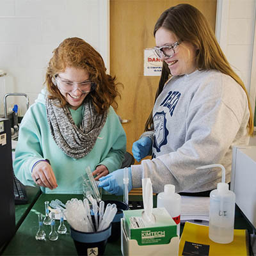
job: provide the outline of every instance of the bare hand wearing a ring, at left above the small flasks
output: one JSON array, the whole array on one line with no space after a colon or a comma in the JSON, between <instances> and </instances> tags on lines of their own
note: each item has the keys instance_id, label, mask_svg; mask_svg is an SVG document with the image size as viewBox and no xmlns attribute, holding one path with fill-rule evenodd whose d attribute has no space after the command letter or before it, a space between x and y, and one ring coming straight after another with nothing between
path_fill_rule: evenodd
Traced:
<instances>
[{"instance_id":1,"label":"bare hand wearing a ring, at left above the small flasks","mask_svg":"<svg viewBox=\"0 0 256 256\"><path fill-rule=\"evenodd\" d=\"M51 164L46 161L40 161L40 163L36 164L33 168L32 178L38 186L49 189L58 187Z\"/></svg>"}]
</instances>

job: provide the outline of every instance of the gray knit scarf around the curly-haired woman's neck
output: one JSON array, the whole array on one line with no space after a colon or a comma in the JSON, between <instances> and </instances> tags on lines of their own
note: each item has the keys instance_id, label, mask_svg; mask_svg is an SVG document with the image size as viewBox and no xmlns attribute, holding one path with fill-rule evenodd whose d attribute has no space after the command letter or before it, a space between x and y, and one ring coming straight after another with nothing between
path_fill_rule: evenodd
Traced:
<instances>
[{"instance_id":1,"label":"gray knit scarf around the curly-haired woman's neck","mask_svg":"<svg viewBox=\"0 0 256 256\"><path fill-rule=\"evenodd\" d=\"M98 114L92 100L86 97L83 103L83 121L77 127L68 107L59 108L57 107L59 105L60 100L47 97L47 121L52 138L67 156L80 159L86 156L95 145L106 122L108 111Z\"/></svg>"}]
</instances>

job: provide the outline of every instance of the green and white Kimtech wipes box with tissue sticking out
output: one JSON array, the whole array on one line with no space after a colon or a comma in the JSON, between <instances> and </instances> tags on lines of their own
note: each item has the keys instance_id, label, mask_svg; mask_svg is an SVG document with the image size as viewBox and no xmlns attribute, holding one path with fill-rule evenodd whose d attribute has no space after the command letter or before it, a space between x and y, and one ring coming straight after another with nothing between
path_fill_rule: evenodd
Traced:
<instances>
[{"instance_id":1,"label":"green and white Kimtech wipes box with tissue sticking out","mask_svg":"<svg viewBox=\"0 0 256 256\"><path fill-rule=\"evenodd\" d=\"M143 220L143 209L124 211L124 228L128 239L134 239L139 246L168 244L177 236L177 225L165 208L154 208L156 221Z\"/></svg>"}]
</instances>

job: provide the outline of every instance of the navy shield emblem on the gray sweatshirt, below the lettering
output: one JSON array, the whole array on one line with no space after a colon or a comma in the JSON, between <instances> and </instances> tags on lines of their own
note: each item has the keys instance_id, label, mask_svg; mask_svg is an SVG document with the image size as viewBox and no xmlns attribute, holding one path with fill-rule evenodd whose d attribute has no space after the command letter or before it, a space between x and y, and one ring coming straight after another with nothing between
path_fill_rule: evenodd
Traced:
<instances>
[{"instance_id":1,"label":"navy shield emblem on the gray sweatshirt, below the lettering","mask_svg":"<svg viewBox=\"0 0 256 256\"><path fill-rule=\"evenodd\" d=\"M163 145L167 144L167 136L169 134L168 130L166 129L166 113L164 111L157 112L154 115L154 145L153 147L156 148L157 152L160 152L160 148Z\"/></svg>"}]
</instances>

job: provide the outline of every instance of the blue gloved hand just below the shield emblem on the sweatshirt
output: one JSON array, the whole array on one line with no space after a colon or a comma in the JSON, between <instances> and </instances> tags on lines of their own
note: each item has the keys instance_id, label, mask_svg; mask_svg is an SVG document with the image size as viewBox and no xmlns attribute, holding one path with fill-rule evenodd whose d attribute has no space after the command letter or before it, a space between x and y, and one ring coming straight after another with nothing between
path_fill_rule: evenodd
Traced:
<instances>
[{"instance_id":1,"label":"blue gloved hand just below the shield emblem on the sweatshirt","mask_svg":"<svg viewBox=\"0 0 256 256\"><path fill-rule=\"evenodd\" d=\"M138 162L148 156L151 150L152 140L149 137L143 137L132 144L132 154Z\"/></svg>"}]
</instances>

